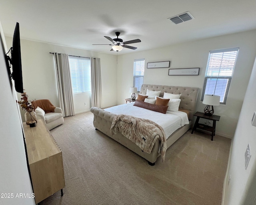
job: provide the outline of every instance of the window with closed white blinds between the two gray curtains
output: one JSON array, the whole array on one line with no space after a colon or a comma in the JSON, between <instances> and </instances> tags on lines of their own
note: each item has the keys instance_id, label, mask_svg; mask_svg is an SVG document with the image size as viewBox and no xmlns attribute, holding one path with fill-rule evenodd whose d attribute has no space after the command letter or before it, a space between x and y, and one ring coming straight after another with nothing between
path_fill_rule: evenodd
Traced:
<instances>
[{"instance_id":1,"label":"window with closed white blinds between the two gray curtains","mask_svg":"<svg viewBox=\"0 0 256 205\"><path fill-rule=\"evenodd\" d=\"M90 58L69 57L73 93L91 92Z\"/></svg>"}]
</instances>

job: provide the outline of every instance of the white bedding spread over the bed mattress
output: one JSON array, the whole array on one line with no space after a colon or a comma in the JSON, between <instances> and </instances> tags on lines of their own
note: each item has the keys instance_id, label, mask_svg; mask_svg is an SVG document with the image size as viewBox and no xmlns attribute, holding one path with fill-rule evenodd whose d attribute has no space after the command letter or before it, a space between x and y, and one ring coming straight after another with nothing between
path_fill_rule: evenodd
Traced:
<instances>
[{"instance_id":1,"label":"white bedding spread over the bed mattress","mask_svg":"<svg viewBox=\"0 0 256 205\"><path fill-rule=\"evenodd\" d=\"M121 104L104 110L114 114L127 114L138 118L152 120L163 128L166 139L178 128L185 124L189 124L188 115L185 112L167 111L166 114L163 114L138 106L133 106L133 104L134 103Z\"/></svg>"}]
</instances>

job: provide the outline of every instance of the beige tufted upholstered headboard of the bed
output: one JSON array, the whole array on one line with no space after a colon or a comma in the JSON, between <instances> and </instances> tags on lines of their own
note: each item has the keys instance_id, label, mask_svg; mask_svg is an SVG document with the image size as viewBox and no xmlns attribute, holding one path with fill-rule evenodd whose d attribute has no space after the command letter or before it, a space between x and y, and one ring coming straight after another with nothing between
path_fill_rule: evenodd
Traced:
<instances>
[{"instance_id":1,"label":"beige tufted upholstered headboard of the bed","mask_svg":"<svg viewBox=\"0 0 256 205\"><path fill-rule=\"evenodd\" d=\"M193 119L193 115L196 112L196 101L199 93L199 88L143 84L140 89L140 94L146 95L147 89L149 89L150 91L161 91L160 97L163 97L164 93L181 94L179 108L189 110L189 119Z\"/></svg>"}]
</instances>

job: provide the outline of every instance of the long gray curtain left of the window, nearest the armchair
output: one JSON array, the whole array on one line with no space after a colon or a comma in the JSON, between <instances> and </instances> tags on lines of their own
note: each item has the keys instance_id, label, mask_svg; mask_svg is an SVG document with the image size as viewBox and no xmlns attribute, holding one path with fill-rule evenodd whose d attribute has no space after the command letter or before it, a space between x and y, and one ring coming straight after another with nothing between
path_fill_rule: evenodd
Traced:
<instances>
[{"instance_id":1,"label":"long gray curtain left of the window, nearest the armchair","mask_svg":"<svg viewBox=\"0 0 256 205\"><path fill-rule=\"evenodd\" d=\"M75 115L68 54L54 53L58 97L64 117Z\"/></svg>"}]
</instances>

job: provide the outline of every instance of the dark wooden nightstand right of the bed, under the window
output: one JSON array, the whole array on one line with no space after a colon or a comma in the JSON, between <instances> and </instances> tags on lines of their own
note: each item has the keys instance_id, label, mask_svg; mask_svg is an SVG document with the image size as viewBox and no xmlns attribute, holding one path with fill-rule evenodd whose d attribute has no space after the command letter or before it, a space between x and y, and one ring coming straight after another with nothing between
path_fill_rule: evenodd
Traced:
<instances>
[{"instance_id":1,"label":"dark wooden nightstand right of the bed, under the window","mask_svg":"<svg viewBox=\"0 0 256 205\"><path fill-rule=\"evenodd\" d=\"M196 128L200 128L202 130L212 132L212 139L211 140L213 141L213 136L215 135L215 129L216 129L216 121L220 120L220 116L214 115L214 114L209 116L209 115L205 115L204 112L196 112L194 114L194 116L197 116L197 118L196 118L196 122L194 124L194 127L193 127L193 130L192 130L191 134L193 134L193 132L196 130ZM204 119L207 119L207 120L212 120L212 126L208 126L206 124L198 123L200 118L204 118Z\"/></svg>"}]
</instances>

